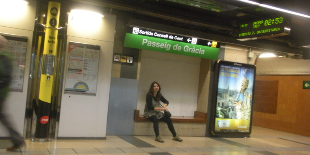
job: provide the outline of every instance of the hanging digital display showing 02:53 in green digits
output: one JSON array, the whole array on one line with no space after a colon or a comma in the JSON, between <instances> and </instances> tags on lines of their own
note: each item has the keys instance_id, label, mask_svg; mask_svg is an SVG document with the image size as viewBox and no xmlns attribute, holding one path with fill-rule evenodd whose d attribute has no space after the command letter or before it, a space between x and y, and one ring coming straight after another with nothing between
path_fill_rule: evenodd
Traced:
<instances>
[{"instance_id":1,"label":"hanging digital display showing 02:53 in green digits","mask_svg":"<svg viewBox=\"0 0 310 155\"><path fill-rule=\"evenodd\" d=\"M284 17L267 18L241 23L238 26L237 40L254 40L290 34L290 27Z\"/></svg>"}]
</instances>

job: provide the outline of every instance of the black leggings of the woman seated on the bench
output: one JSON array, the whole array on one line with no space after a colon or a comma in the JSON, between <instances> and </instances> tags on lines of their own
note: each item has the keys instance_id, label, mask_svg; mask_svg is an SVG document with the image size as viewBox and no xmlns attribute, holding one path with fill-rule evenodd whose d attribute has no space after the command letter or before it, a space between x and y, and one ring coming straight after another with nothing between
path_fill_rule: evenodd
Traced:
<instances>
[{"instance_id":1,"label":"black leggings of the woman seated on the bench","mask_svg":"<svg viewBox=\"0 0 310 155\"><path fill-rule=\"evenodd\" d=\"M158 126L159 120L162 120L163 122L167 123L168 128L170 132L172 133L172 135L174 137L176 136L175 129L173 127L171 118L164 116L161 119L158 119L156 115L153 115L151 117L148 117L148 119L150 119L153 122L153 127L154 127L156 137L159 135L159 126Z\"/></svg>"}]
</instances>

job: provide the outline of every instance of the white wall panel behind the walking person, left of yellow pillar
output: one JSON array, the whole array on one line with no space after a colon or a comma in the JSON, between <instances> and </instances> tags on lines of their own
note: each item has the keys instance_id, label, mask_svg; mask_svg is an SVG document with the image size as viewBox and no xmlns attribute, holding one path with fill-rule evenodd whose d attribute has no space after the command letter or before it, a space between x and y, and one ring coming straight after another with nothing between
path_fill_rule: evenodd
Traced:
<instances>
[{"instance_id":1,"label":"white wall panel behind the walking person, left of yellow pillar","mask_svg":"<svg viewBox=\"0 0 310 155\"><path fill-rule=\"evenodd\" d=\"M13 121L16 130L23 135L36 2L30 0L29 5L14 4L14 6L0 3L0 6L0 33L28 37L23 92L11 92L6 101L6 111L11 116L10 120ZM7 136L9 136L7 130L0 123L0 137Z\"/></svg>"}]
</instances>

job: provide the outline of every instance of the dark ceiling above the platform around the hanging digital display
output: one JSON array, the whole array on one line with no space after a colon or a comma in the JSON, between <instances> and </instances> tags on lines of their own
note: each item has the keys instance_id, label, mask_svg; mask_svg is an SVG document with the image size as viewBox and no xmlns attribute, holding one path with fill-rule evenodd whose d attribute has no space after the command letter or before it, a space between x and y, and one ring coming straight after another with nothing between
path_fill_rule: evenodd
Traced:
<instances>
[{"instance_id":1,"label":"dark ceiling above the platform around the hanging digital display","mask_svg":"<svg viewBox=\"0 0 310 155\"><path fill-rule=\"evenodd\" d=\"M302 55L309 51L310 19L237 0L72 0L107 7L109 13L162 23L175 27L215 34L223 42L250 47L270 45L271 50ZM309 0L255 0L261 4L310 15ZM242 22L283 16L290 34L251 41L238 41L238 25ZM218 40L221 41L221 40ZM266 48L266 47L258 47ZM282 48L282 49L281 49ZM277 50L278 49L278 50Z\"/></svg>"}]
</instances>

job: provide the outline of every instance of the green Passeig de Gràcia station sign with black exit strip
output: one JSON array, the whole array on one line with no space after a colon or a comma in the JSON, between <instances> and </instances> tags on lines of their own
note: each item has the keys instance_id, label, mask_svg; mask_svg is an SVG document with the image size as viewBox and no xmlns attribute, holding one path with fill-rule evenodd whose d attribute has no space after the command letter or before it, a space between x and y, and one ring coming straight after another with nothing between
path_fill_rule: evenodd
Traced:
<instances>
[{"instance_id":1,"label":"green Passeig de Gr\u00e0cia station sign with black exit strip","mask_svg":"<svg viewBox=\"0 0 310 155\"><path fill-rule=\"evenodd\" d=\"M220 43L129 27L127 28L124 47L216 60L219 54Z\"/></svg>"}]
</instances>

